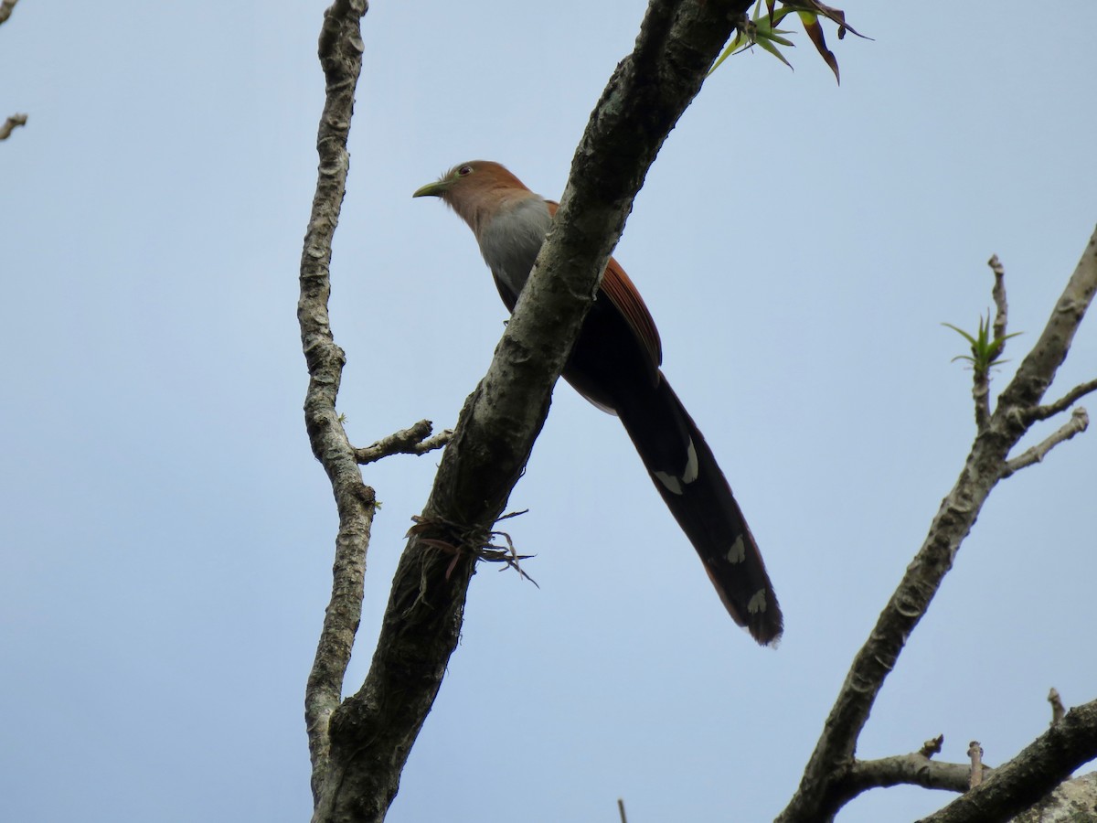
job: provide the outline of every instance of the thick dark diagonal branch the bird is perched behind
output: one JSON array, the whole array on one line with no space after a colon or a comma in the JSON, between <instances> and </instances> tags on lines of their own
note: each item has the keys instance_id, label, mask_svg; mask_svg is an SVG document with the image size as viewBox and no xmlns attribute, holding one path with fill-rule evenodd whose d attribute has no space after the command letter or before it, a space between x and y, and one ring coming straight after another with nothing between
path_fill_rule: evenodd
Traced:
<instances>
[{"instance_id":1,"label":"thick dark diagonal branch the bird is perched behind","mask_svg":"<svg viewBox=\"0 0 1097 823\"><path fill-rule=\"evenodd\" d=\"M316 821L381 821L461 630L472 551L529 458L552 387L648 167L750 0L653 0L572 165L554 228L491 365L462 409L393 580L361 690L331 718L331 768Z\"/></svg>"}]
</instances>

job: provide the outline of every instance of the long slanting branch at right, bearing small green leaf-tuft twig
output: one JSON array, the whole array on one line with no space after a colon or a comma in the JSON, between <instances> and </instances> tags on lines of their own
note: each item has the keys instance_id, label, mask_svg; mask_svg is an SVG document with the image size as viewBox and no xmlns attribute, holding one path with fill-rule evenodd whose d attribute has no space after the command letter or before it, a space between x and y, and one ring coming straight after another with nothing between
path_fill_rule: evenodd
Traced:
<instances>
[{"instance_id":1,"label":"long slanting branch at right, bearing small green leaf-tuft twig","mask_svg":"<svg viewBox=\"0 0 1097 823\"><path fill-rule=\"evenodd\" d=\"M1095 291L1097 232L1089 238L1040 339L1003 392L986 427L976 433L960 476L934 517L925 542L855 656L800 787L778 816L781 823L832 820L841 807L841 780L853 763L857 739L877 695L952 567L960 543L1006 471L1009 451L1031 425L1032 410L1065 359Z\"/></svg>"}]
</instances>

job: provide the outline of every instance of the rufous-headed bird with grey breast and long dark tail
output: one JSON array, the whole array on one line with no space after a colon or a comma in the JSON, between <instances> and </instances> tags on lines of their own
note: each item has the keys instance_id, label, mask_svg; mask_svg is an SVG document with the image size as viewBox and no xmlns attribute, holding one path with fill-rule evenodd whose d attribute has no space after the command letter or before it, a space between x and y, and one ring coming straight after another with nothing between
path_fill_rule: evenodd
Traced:
<instances>
[{"instance_id":1,"label":"rufous-headed bird with grey breast and long dark tail","mask_svg":"<svg viewBox=\"0 0 1097 823\"><path fill-rule=\"evenodd\" d=\"M513 312L558 204L490 160L454 166L412 196L440 198L468 224L499 296ZM661 365L655 320L611 257L562 376L620 418L732 619L759 644L774 644L783 618L758 544Z\"/></svg>"}]
</instances>

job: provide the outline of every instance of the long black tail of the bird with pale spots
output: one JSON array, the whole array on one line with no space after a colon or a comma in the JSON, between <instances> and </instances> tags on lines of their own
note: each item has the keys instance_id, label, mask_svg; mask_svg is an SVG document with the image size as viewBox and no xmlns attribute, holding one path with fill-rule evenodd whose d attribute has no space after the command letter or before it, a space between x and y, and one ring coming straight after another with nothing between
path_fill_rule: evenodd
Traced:
<instances>
[{"instance_id":1,"label":"long black tail of the bird with pale spots","mask_svg":"<svg viewBox=\"0 0 1097 823\"><path fill-rule=\"evenodd\" d=\"M619 405L618 416L732 619L772 643L783 630L781 607L716 458L666 377L644 394Z\"/></svg>"}]
</instances>

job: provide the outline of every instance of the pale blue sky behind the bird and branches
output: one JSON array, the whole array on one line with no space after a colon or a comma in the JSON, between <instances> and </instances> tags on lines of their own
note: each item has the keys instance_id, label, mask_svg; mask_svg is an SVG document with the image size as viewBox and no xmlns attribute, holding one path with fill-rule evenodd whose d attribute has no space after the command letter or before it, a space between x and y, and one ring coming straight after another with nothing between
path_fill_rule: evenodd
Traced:
<instances>
[{"instance_id":1,"label":"pale blue sky behind the bird and branches","mask_svg":"<svg viewBox=\"0 0 1097 823\"><path fill-rule=\"evenodd\" d=\"M47 3L0 26L0 819L299 821L302 695L336 526L301 404L297 260L324 2ZM505 312L467 229L411 192L507 164L557 195L644 2L378 0L332 313L360 444L452 425ZM950 358L1008 272L1011 374L1097 208L1097 5L864 2L842 86L802 35L713 77L618 258L784 607L724 613L619 424L557 392L389 820L765 821L952 485L973 422ZM917 12L925 9L925 16ZM1053 394L1097 374L1097 317ZM1090 401L1090 405L1094 404ZM1044 430L1047 431L1047 429ZM437 455L384 501L359 654ZM1055 686L1093 699L1097 438L1004 483L889 679L859 754L997 764ZM846 823L942 804L874 792Z\"/></svg>"}]
</instances>

